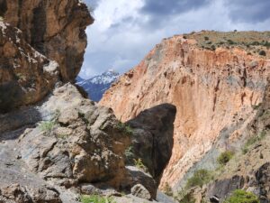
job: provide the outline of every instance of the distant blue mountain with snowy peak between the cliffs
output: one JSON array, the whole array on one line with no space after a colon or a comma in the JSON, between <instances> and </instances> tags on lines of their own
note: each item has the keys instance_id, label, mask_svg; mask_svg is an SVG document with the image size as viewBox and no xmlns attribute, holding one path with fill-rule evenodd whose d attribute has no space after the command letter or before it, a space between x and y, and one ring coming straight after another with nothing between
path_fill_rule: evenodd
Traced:
<instances>
[{"instance_id":1,"label":"distant blue mountain with snowy peak between the cliffs","mask_svg":"<svg viewBox=\"0 0 270 203\"><path fill-rule=\"evenodd\" d=\"M120 77L120 74L113 69L108 69L103 74L93 78L84 79L77 77L76 84L85 89L88 97L93 101L100 101L104 92L111 87L112 83Z\"/></svg>"}]
</instances>

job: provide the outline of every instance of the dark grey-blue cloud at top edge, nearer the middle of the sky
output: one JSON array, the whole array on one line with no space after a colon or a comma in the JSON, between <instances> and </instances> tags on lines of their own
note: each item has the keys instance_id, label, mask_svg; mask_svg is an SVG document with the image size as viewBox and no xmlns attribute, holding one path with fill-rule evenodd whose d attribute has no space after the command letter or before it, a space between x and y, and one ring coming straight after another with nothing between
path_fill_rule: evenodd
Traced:
<instances>
[{"instance_id":1,"label":"dark grey-blue cloud at top edge, nearer the middle of the sky","mask_svg":"<svg viewBox=\"0 0 270 203\"><path fill-rule=\"evenodd\" d=\"M163 17L164 15L181 14L207 5L210 0L145 0L141 11L145 14Z\"/></svg>"}]
</instances>

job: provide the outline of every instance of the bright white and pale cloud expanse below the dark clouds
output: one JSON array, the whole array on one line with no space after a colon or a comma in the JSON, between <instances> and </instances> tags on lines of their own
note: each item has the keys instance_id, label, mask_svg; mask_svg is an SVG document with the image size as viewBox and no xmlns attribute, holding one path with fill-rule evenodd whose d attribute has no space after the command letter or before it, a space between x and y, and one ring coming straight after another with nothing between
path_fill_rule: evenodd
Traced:
<instances>
[{"instance_id":1,"label":"bright white and pale cloud expanse below the dark clouds","mask_svg":"<svg viewBox=\"0 0 270 203\"><path fill-rule=\"evenodd\" d=\"M98 1L95 22L86 31L88 47L80 76L89 78L112 68L127 71L138 64L155 44L174 34L200 30L268 29L270 19L262 23L233 22L226 1L211 0L209 5L181 14L162 15L162 21L157 14L155 17L160 23L152 24L149 24L149 15L140 11L145 0Z\"/></svg>"}]
</instances>

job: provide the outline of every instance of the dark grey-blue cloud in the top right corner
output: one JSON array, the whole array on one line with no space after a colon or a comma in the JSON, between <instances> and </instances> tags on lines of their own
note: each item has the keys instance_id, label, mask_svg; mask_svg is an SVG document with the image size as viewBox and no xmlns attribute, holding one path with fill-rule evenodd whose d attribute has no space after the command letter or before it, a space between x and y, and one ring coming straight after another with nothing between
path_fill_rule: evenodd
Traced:
<instances>
[{"instance_id":1,"label":"dark grey-blue cloud in the top right corner","mask_svg":"<svg viewBox=\"0 0 270 203\"><path fill-rule=\"evenodd\" d=\"M225 0L232 21L260 23L270 19L270 0Z\"/></svg>"}]
</instances>

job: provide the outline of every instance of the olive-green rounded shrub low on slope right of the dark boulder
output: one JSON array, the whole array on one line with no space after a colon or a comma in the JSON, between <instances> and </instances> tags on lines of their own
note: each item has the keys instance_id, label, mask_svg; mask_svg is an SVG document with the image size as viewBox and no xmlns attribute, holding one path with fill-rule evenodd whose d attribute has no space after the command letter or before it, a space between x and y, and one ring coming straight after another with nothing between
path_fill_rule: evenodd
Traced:
<instances>
[{"instance_id":1,"label":"olive-green rounded shrub low on slope right of the dark boulder","mask_svg":"<svg viewBox=\"0 0 270 203\"><path fill-rule=\"evenodd\" d=\"M208 170L202 169L195 171L193 177L187 180L185 188L190 189L195 186L199 186L202 188L204 184L211 181L211 178L211 172Z\"/></svg>"}]
</instances>

